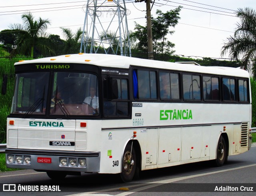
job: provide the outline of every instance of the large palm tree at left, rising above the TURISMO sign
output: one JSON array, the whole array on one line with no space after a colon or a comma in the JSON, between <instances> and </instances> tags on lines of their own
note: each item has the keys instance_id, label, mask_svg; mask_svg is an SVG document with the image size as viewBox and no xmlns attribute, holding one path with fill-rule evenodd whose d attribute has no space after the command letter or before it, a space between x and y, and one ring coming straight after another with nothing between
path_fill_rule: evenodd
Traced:
<instances>
[{"instance_id":1,"label":"large palm tree at left, rising above the TURISMO sign","mask_svg":"<svg viewBox=\"0 0 256 196\"><path fill-rule=\"evenodd\" d=\"M34 20L34 16L28 12L21 16L24 24L11 24L9 28L18 31L17 47L12 54L24 54L34 56L35 48L45 56L54 54L51 47L50 39L46 34L47 26L50 20L39 18Z\"/></svg>"}]
</instances>

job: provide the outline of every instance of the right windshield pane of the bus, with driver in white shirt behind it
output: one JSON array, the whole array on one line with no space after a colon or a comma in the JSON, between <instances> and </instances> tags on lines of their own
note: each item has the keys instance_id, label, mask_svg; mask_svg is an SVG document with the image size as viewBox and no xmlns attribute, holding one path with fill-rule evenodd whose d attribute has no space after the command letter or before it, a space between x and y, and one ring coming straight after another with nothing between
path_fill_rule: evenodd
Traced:
<instances>
[{"instance_id":1,"label":"right windshield pane of the bus, with driver in white shirt behind it","mask_svg":"<svg viewBox=\"0 0 256 196\"><path fill-rule=\"evenodd\" d=\"M97 115L97 81L94 74L54 72L50 115Z\"/></svg>"}]
</instances>

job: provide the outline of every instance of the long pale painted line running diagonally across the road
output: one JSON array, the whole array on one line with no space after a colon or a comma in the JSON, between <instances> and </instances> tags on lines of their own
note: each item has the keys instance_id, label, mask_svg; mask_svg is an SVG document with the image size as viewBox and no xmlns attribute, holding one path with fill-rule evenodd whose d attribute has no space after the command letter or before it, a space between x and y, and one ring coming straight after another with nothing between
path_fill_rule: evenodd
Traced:
<instances>
[{"instance_id":1,"label":"long pale painted line running diagonally across the road","mask_svg":"<svg viewBox=\"0 0 256 196\"><path fill-rule=\"evenodd\" d=\"M232 171L232 170L239 170L239 169L248 168L248 167L252 167L252 166L256 166L256 164L247 165L247 166L241 166L241 167L237 167L237 168L230 168L230 169L220 170L220 171L216 171L216 172L208 172L208 173L204 173L204 174L196 174L196 175L192 175L192 176L184 176L184 177L180 177L180 178L172 178L172 179L168 179L168 180L159 180L159 181L155 181L155 182L135 184L135 185L126 186L126 187L127 188L132 188L132 187L136 187L136 186L143 186L143 187L136 188L136 189L132 190L132 192L122 192L120 194L116 194L115 196L126 196L126 195L129 195L129 194L132 194L132 193L136 193L138 191L146 190L148 188L153 188L153 187L156 187L156 186L161 186L162 184L167 184L167 183L171 183L171 182L177 182L177 181L186 180L186 179L189 179L189 178L196 178L196 177L200 177L200 176L206 176L206 175L210 175L210 174L217 174L217 173L221 173L221 172L228 172L228 171ZM150 184L150 185L147 185L147 184ZM145 185L147 185L147 186L145 186ZM112 190L118 190L118 187L110 188L110 189L105 189L105 190L98 190L96 192L85 192L85 193L79 193L79 194L72 194L70 196L88 196L88 195L94 195L95 193L108 192L108 191L112 191ZM104 195L106 195L106 194L104 194Z\"/></svg>"}]
</instances>

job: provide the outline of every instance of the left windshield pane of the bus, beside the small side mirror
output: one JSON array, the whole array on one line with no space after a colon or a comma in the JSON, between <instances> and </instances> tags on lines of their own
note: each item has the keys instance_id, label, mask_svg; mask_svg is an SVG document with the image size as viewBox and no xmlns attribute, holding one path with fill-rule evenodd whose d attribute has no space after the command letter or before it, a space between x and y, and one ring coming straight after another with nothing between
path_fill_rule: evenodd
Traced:
<instances>
[{"instance_id":1,"label":"left windshield pane of the bus, beside the small side mirror","mask_svg":"<svg viewBox=\"0 0 256 196\"><path fill-rule=\"evenodd\" d=\"M49 72L16 74L11 114L45 114Z\"/></svg>"}]
</instances>

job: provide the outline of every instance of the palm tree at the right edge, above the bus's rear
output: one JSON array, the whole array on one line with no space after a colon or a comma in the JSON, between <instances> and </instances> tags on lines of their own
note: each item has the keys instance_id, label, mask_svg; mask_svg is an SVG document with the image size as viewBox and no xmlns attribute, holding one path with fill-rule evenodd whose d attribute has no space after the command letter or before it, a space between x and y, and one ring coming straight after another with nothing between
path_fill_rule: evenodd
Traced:
<instances>
[{"instance_id":1,"label":"palm tree at the right edge, above the bus's rear","mask_svg":"<svg viewBox=\"0 0 256 196\"><path fill-rule=\"evenodd\" d=\"M230 36L222 47L221 55L228 53L232 60L242 60L242 68L256 76L256 11L252 8L239 8L236 16L234 37Z\"/></svg>"}]
</instances>

